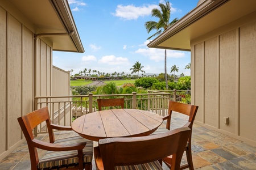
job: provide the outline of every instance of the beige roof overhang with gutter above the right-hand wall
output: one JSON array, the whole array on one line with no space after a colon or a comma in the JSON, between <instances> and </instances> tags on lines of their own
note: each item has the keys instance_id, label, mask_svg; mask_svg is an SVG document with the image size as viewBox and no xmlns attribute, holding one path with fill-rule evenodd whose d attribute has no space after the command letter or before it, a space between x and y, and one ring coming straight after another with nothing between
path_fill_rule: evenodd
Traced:
<instances>
[{"instance_id":1,"label":"beige roof overhang with gutter above the right-hand wall","mask_svg":"<svg viewBox=\"0 0 256 170\"><path fill-rule=\"evenodd\" d=\"M255 0L205 0L147 46L150 48L190 51L191 40L255 10Z\"/></svg>"}]
</instances>

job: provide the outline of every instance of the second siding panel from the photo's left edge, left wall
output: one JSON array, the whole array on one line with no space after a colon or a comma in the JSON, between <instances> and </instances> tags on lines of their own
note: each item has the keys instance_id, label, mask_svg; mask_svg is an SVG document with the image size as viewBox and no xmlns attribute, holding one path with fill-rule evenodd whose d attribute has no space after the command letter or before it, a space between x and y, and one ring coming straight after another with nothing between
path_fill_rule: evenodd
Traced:
<instances>
[{"instance_id":1,"label":"second siding panel from the photo's left edge, left wall","mask_svg":"<svg viewBox=\"0 0 256 170\"><path fill-rule=\"evenodd\" d=\"M17 117L21 116L21 64L22 64L22 24L9 15L9 54L8 54L8 148L20 140L20 126Z\"/></svg>"}]
</instances>

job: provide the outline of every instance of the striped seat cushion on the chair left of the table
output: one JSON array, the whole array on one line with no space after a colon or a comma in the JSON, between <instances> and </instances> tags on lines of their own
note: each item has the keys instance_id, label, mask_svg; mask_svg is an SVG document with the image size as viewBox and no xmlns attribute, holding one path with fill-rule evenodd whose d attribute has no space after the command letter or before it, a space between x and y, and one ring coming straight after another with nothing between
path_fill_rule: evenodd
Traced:
<instances>
[{"instance_id":1,"label":"striped seat cushion on the chair left of the table","mask_svg":"<svg viewBox=\"0 0 256 170\"><path fill-rule=\"evenodd\" d=\"M86 146L82 150L84 153L84 162L91 163L93 158L93 141L89 141L88 139L76 136L59 139L56 140L54 143L61 145L71 145L81 142L86 142ZM77 150L60 152L47 151L43 158L40 159L38 168L49 168L73 163L79 163L79 159L77 157Z\"/></svg>"}]
</instances>

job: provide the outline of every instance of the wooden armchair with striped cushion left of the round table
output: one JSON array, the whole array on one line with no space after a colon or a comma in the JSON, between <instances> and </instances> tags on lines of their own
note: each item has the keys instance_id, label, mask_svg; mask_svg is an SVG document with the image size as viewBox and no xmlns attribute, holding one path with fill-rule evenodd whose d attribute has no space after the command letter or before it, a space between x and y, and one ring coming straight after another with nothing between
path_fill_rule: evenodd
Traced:
<instances>
[{"instance_id":1,"label":"wooden armchair with striped cushion left of the round table","mask_svg":"<svg viewBox=\"0 0 256 170\"><path fill-rule=\"evenodd\" d=\"M72 128L51 124L47 107L19 117L18 121L27 140L32 170L50 167L63 168L70 164L73 166L72 169L92 169L93 141L80 136L55 141L53 129L72 130ZM50 143L35 139L32 132L37 125L44 121L46 121ZM37 148L48 150L40 160Z\"/></svg>"}]
</instances>

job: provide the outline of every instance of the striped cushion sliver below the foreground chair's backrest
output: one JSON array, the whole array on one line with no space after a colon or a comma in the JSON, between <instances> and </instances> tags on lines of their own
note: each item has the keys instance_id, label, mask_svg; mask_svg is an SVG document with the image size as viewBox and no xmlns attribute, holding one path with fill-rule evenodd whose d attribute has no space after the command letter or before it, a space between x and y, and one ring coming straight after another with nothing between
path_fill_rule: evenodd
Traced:
<instances>
[{"instance_id":1,"label":"striped cushion sliver below the foreground chair's backrest","mask_svg":"<svg viewBox=\"0 0 256 170\"><path fill-rule=\"evenodd\" d=\"M129 166L117 166L115 167L116 170L156 170L156 169L163 169L162 166L158 161L150 162L146 164L139 164L139 165L129 165Z\"/></svg>"}]
</instances>

